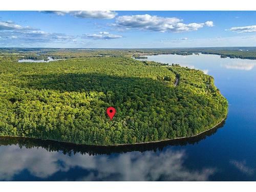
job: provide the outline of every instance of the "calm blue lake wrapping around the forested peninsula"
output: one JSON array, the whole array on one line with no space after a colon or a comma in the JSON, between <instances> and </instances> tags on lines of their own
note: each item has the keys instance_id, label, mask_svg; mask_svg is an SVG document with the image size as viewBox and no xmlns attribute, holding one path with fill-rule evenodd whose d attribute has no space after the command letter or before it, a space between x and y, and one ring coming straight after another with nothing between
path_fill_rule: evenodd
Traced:
<instances>
[{"instance_id":1,"label":"calm blue lake wrapping around the forested peninsula","mask_svg":"<svg viewBox=\"0 0 256 192\"><path fill-rule=\"evenodd\" d=\"M158 55L214 76L228 99L219 129L193 139L127 147L89 147L0 138L0 180L256 180L256 60Z\"/></svg>"}]
</instances>

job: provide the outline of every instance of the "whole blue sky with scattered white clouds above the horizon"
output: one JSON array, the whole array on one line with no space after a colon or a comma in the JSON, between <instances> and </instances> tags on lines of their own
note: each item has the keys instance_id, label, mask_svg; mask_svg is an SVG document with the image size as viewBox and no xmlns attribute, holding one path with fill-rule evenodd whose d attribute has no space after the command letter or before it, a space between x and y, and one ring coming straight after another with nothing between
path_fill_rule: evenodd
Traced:
<instances>
[{"instance_id":1,"label":"whole blue sky with scattered white clouds above the horizon","mask_svg":"<svg viewBox=\"0 0 256 192\"><path fill-rule=\"evenodd\" d=\"M256 46L256 11L0 11L0 47Z\"/></svg>"}]
</instances>

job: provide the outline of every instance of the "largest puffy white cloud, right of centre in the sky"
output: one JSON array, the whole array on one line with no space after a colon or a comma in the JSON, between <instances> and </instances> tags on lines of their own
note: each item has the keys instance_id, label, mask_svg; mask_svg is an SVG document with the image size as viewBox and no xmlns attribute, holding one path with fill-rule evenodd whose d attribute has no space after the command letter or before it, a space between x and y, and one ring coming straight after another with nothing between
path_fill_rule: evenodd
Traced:
<instances>
[{"instance_id":1,"label":"largest puffy white cloud, right of centre in the sky","mask_svg":"<svg viewBox=\"0 0 256 192\"><path fill-rule=\"evenodd\" d=\"M159 32L187 32L196 31L204 26L212 27L213 22L207 21L205 23L181 23L182 19L176 17L159 17L144 15L124 15L116 19L113 26L122 27L125 29L139 29Z\"/></svg>"}]
</instances>

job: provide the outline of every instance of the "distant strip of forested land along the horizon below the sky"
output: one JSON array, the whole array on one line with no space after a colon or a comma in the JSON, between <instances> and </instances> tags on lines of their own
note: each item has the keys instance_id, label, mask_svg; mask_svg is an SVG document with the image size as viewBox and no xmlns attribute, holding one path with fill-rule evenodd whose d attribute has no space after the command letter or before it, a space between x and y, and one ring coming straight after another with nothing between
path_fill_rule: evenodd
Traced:
<instances>
[{"instance_id":1,"label":"distant strip of forested land along the horizon below the sky","mask_svg":"<svg viewBox=\"0 0 256 192\"><path fill-rule=\"evenodd\" d=\"M166 48L166 49L51 49L51 48L0 48L0 57L16 56L19 59L48 60L83 57L133 57L146 59L148 55L214 54L221 58L256 59L256 47L215 47L215 48Z\"/></svg>"}]
</instances>

